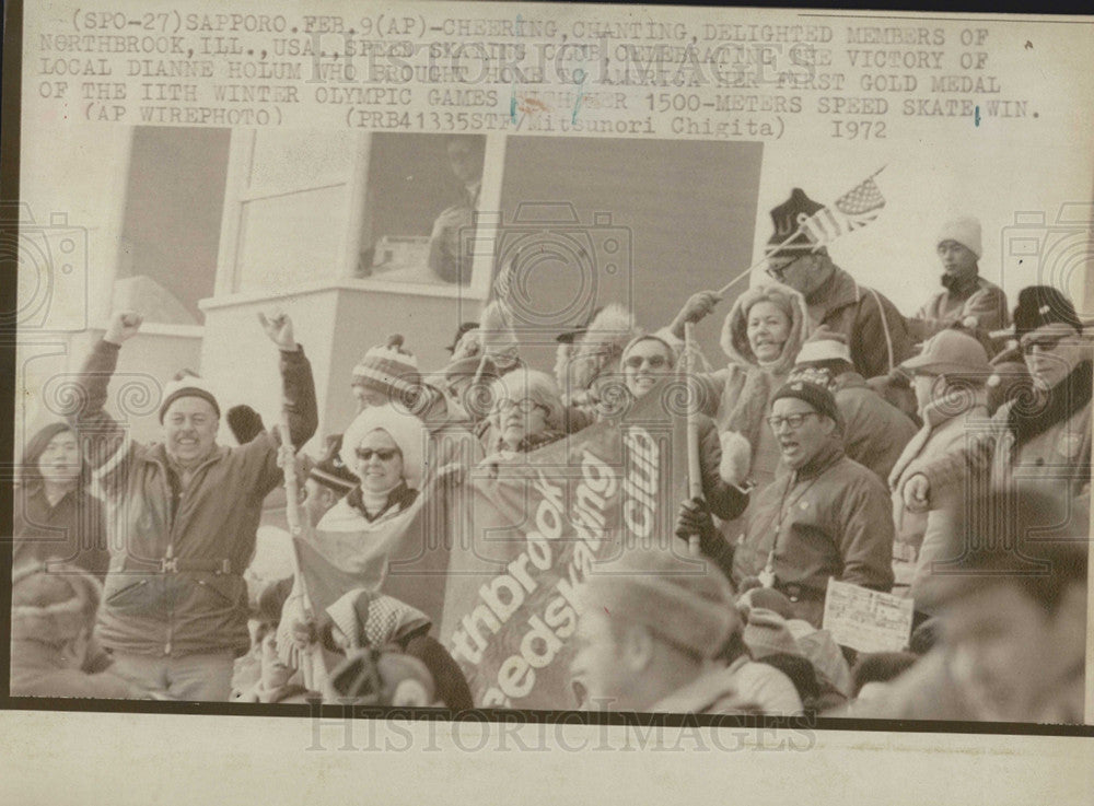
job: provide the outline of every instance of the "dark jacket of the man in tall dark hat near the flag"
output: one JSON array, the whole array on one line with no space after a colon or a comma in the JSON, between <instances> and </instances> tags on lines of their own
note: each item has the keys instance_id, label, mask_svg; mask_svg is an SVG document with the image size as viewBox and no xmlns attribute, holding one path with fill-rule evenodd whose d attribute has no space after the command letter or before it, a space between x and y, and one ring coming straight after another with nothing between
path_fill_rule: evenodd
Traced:
<instances>
[{"instance_id":1,"label":"dark jacket of the man in tall dark hat near the flag","mask_svg":"<svg viewBox=\"0 0 1094 806\"><path fill-rule=\"evenodd\" d=\"M859 285L839 267L806 302L810 332L825 326L843 334L851 363L863 377L886 375L915 352L915 341L896 306L884 294Z\"/></svg>"}]
</instances>

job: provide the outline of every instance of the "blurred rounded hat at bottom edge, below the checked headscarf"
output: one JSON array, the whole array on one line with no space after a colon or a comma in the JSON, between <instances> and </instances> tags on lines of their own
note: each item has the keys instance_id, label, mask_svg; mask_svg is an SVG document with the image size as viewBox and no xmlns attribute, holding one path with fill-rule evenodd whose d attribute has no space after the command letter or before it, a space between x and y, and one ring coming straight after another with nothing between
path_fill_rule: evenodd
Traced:
<instances>
[{"instance_id":1,"label":"blurred rounded hat at bottom edge, below the checked headscarf","mask_svg":"<svg viewBox=\"0 0 1094 806\"><path fill-rule=\"evenodd\" d=\"M429 706L435 685L426 665L401 652L350 653L331 671L324 700L360 705Z\"/></svg>"}]
</instances>

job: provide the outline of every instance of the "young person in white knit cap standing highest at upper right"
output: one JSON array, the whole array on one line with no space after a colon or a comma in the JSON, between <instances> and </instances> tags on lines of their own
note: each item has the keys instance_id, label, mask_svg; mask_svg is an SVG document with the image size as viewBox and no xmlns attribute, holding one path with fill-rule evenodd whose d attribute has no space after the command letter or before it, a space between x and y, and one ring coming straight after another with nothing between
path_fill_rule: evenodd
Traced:
<instances>
[{"instance_id":1,"label":"young person in white knit cap standing highest at upper right","mask_svg":"<svg viewBox=\"0 0 1094 806\"><path fill-rule=\"evenodd\" d=\"M935 243L943 269L942 291L908 319L912 337L924 341L956 323L987 332L1009 326L1006 294L979 274L978 261L984 257L980 221L971 217L947 221Z\"/></svg>"}]
</instances>

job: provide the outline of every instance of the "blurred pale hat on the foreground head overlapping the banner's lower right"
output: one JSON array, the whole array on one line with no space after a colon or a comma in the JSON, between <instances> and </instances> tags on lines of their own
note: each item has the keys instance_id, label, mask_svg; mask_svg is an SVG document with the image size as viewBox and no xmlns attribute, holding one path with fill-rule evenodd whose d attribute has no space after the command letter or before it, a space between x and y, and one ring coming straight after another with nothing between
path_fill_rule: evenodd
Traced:
<instances>
[{"instance_id":1,"label":"blurred pale hat on the foreground head overlapping the banner's lower right","mask_svg":"<svg viewBox=\"0 0 1094 806\"><path fill-rule=\"evenodd\" d=\"M710 658L741 630L733 589L710 563L696 569L664 549L631 549L595 569L579 594L583 612L644 624L666 642Z\"/></svg>"}]
</instances>

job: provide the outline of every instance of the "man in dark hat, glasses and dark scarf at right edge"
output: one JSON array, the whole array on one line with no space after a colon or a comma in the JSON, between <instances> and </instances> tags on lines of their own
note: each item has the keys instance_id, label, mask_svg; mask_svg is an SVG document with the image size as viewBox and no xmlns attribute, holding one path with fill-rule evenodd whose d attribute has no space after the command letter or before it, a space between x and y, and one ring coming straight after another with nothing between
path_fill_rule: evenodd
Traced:
<instances>
[{"instance_id":1,"label":"man in dark hat, glasses and dark scarf at right edge","mask_svg":"<svg viewBox=\"0 0 1094 806\"><path fill-rule=\"evenodd\" d=\"M1019 293L1014 335L1034 384L1034 400L1014 399L963 451L908 479L905 505L930 510L934 491L965 484L988 490L1043 488L1064 494L1075 534L1089 532L1091 479L1091 342L1071 301L1049 285Z\"/></svg>"}]
</instances>

